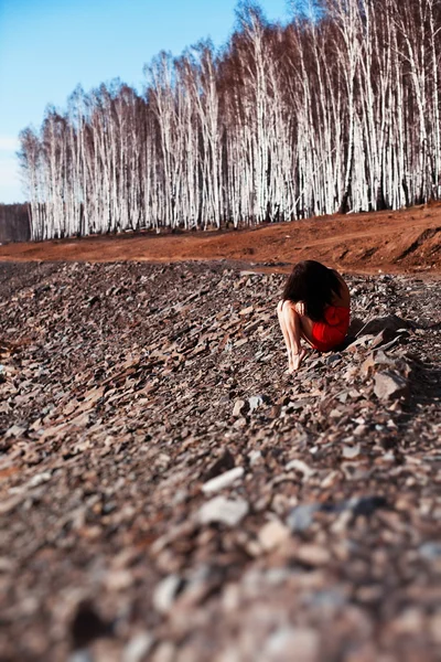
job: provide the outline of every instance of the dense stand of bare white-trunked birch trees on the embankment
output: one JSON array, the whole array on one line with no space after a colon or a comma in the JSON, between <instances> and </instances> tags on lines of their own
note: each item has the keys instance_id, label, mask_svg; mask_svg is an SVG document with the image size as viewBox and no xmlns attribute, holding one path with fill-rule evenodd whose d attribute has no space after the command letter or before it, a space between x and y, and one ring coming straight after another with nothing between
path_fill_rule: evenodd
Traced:
<instances>
[{"instance_id":1,"label":"dense stand of bare white-trunked birch trees on the embankment","mask_svg":"<svg viewBox=\"0 0 441 662\"><path fill-rule=\"evenodd\" d=\"M321 0L77 88L21 132L32 237L218 228L441 197L441 0Z\"/></svg>"}]
</instances>

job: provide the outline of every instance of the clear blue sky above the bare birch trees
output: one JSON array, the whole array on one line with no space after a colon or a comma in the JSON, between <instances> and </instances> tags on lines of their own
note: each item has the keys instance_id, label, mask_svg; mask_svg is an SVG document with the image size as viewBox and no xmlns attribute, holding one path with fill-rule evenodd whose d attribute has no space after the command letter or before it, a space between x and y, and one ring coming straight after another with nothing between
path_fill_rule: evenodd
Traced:
<instances>
[{"instance_id":1,"label":"clear blue sky above the bare birch trees","mask_svg":"<svg viewBox=\"0 0 441 662\"><path fill-rule=\"evenodd\" d=\"M141 89L142 67L161 50L179 55L211 38L223 45L237 0L0 0L0 202L24 200L15 151L21 129L40 127L47 104L64 109L79 83L88 90L120 77ZM261 0L286 22L287 0Z\"/></svg>"}]
</instances>

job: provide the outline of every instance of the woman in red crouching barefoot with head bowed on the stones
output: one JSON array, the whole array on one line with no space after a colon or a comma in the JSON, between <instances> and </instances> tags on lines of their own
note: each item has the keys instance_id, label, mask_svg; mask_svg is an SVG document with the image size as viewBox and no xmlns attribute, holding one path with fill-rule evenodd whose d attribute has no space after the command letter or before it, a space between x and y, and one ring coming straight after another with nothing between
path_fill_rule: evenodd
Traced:
<instances>
[{"instance_id":1,"label":"woman in red crouching barefoot with head bowed on the stones","mask_svg":"<svg viewBox=\"0 0 441 662\"><path fill-rule=\"evenodd\" d=\"M337 271L312 259L294 266L277 307L288 372L299 370L306 354L302 338L320 352L342 344L349 325L349 290Z\"/></svg>"}]
</instances>

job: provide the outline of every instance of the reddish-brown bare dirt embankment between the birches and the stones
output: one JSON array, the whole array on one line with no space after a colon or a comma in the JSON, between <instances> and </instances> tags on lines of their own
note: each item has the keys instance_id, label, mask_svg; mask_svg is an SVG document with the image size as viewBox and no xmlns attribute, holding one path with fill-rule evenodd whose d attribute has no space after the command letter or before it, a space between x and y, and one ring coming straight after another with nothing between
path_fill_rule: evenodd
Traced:
<instances>
[{"instance_id":1,"label":"reddish-brown bare dirt embankment between the birches and the stones","mask_svg":"<svg viewBox=\"0 0 441 662\"><path fill-rule=\"evenodd\" d=\"M345 271L440 273L441 204L333 215L237 232L90 236L0 246L0 260L239 260L288 270L314 258Z\"/></svg>"}]
</instances>

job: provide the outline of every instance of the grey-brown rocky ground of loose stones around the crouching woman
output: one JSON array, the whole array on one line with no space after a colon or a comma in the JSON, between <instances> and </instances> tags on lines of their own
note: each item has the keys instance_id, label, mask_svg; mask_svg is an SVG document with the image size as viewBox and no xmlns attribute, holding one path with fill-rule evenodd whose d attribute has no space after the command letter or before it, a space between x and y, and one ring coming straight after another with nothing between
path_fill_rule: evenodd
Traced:
<instances>
[{"instance_id":1,"label":"grey-brown rocky ground of loose stones around the crouching woman","mask_svg":"<svg viewBox=\"0 0 441 662\"><path fill-rule=\"evenodd\" d=\"M439 281L293 376L282 281L0 266L2 661L439 659Z\"/></svg>"}]
</instances>

